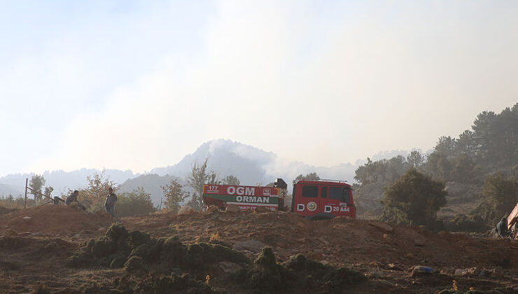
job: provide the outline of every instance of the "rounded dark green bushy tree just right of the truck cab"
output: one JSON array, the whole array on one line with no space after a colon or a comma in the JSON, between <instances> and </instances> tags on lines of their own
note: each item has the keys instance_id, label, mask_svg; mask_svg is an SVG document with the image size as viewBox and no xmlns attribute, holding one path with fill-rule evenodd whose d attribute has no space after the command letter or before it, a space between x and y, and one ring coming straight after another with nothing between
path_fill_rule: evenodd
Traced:
<instances>
[{"instance_id":1,"label":"rounded dark green bushy tree just right of the truck cab","mask_svg":"<svg viewBox=\"0 0 518 294\"><path fill-rule=\"evenodd\" d=\"M384 188L382 221L435 228L436 215L446 205L444 183L408 169L398 181Z\"/></svg>"}]
</instances>

